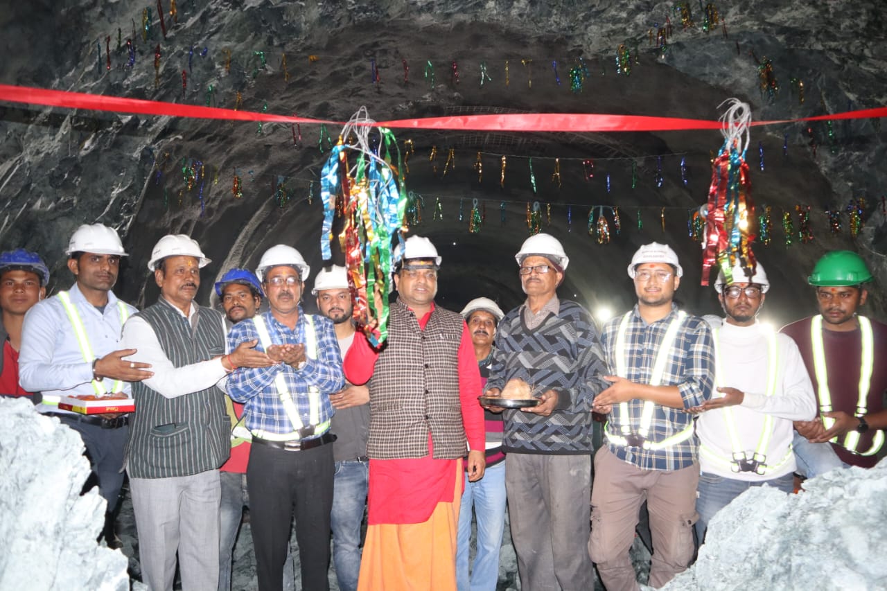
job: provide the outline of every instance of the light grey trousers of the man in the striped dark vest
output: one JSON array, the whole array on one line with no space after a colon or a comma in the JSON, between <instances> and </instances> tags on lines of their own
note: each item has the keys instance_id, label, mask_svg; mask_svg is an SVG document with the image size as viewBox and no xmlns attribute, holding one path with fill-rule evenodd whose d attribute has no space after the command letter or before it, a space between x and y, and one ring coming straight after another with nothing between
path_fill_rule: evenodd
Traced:
<instances>
[{"instance_id":1,"label":"light grey trousers of the man in the striped dark vest","mask_svg":"<svg viewBox=\"0 0 887 591\"><path fill-rule=\"evenodd\" d=\"M142 581L172 591L176 553L182 588L216 591L219 579L219 471L130 478Z\"/></svg>"}]
</instances>

